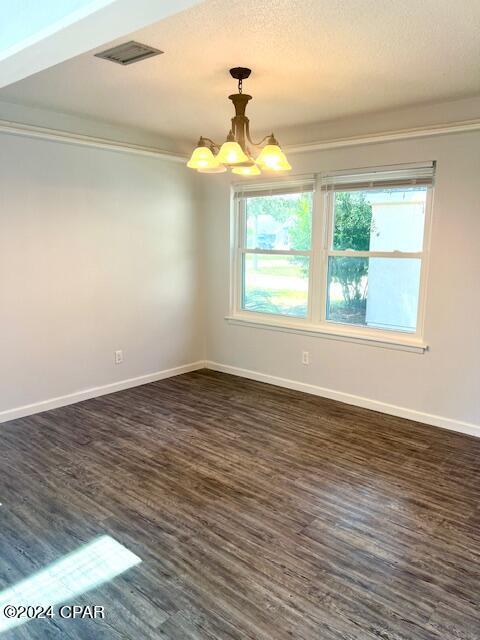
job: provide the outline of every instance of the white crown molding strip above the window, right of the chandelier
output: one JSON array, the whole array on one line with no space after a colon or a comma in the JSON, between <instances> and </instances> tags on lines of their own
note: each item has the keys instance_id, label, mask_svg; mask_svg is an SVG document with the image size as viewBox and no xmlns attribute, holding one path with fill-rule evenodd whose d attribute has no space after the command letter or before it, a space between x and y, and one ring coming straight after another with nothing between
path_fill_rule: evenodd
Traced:
<instances>
[{"instance_id":1,"label":"white crown molding strip above the window, right of the chandelier","mask_svg":"<svg viewBox=\"0 0 480 640\"><path fill-rule=\"evenodd\" d=\"M409 140L412 138L427 138L430 136L446 135L448 133L464 133L478 130L480 130L480 119L464 120L462 122L450 122L448 124L415 127L413 129L397 129L394 131L363 134L348 138L333 138L332 140L286 145L285 151L288 153L308 153L309 151L323 151L324 149L354 147L362 144L393 142L395 140Z\"/></svg>"}]
</instances>

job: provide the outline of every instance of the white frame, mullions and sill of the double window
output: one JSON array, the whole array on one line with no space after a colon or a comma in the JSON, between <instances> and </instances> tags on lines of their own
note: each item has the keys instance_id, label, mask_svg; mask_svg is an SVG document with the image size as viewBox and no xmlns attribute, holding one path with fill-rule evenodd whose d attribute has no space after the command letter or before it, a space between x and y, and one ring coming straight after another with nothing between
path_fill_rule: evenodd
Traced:
<instances>
[{"instance_id":1,"label":"white frame, mullions and sill of the double window","mask_svg":"<svg viewBox=\"0 0 480 640\"><path fill-rule=\"evenodd\" d=\"M389 167L388 169L392 169ZM377 170L376 170L377 171ZM350 172L352 173L352 172ZM354 174L361 176L361 173ZM350 176L349 176L350 177ZM344 252L332 251L332 221L333 215L331 208L333 207L332 191L321 188L324 177L316 176L313 196L313 220L312 220L312 247L310 251L275 251L256 249L246 250L243 247L244 229L243 224L245 216L243 213L243 201L235 198L234 195L238 191L245 189L244 184L235 189L232 188L232 206L231 206L231 263L230 263L230 312L225 319L233 325L250 326L258 329L269 329L275 331L283 331L288 333L300 333L309 336L317 336L326 339L342 340L360 344L368 344L376 347L389 349L397 349L410 351L414 353L424 353L428 349L428 345L423 339L424 322L425 322L425 306L426 306L426 289L427 289L427 273L429 264L429 249L431 235L431 213L432 213L432 196L433 189L427 189L427 201L425 206L425 229L423 249L420 252L381 252L381 251L365 251L365 252ZM293 178L291 181L284 181L287 185L298 185L301 178ZM251 189L264 190L268 195L270 187L267 185L257 185L250 183ZM278 183L275 185L278 187ZM308 310L305 318L293 318L284 315L275 315L271 313L259 313L255 311L246 311L242 309L242 256L244 253L259 254L282 254L282 255L305 255L310 257L310 276L308 290ZM391 331L382 329L373 329L371 327L362 327L349 324L335 323L326 319L326 296L327 296L327 264L328 256L341 255L345 256L349 253L361 257L399 257L399 258L420 258L420 288L418 300L418 316L417 328L415 333L402 331ZM316 277L314 274L317 274ZM315 319L319 318L318 322Z\"/></svg>"}]
</instances>

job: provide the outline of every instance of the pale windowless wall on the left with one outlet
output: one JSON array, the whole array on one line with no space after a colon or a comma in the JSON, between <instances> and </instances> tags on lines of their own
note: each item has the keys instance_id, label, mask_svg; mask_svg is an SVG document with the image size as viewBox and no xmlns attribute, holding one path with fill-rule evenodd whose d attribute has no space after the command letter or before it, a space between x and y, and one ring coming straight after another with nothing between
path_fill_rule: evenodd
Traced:
<instances>
[{"instance_id":1,"label":"pale windowless wall on the left with one outlet","mask_svg":"<svg viewBox=\"0 0 480 640\"><path fill-rule=\"evenodd\" d=\"M179 163L0 135L0 418L204 358L195 188Z\"/></svg>"}]
</instances>

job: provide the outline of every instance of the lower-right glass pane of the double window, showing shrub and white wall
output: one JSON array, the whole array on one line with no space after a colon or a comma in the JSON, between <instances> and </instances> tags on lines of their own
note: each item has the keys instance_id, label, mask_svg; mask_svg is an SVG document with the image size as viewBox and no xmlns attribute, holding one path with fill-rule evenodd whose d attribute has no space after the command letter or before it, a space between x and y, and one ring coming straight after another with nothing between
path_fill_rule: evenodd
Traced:
<instances>
[{"instance_id":1,"label":"lower-right glass pane of the double window, showing shrub and white wall","mask_svg":"<svg viewBox=\"0 0 480 640\"><path fill-rule=\"evenodd\" d=\"M331 256L327 320L414 332L420 267L418 258Z\"/></svg>"}]
</instances>

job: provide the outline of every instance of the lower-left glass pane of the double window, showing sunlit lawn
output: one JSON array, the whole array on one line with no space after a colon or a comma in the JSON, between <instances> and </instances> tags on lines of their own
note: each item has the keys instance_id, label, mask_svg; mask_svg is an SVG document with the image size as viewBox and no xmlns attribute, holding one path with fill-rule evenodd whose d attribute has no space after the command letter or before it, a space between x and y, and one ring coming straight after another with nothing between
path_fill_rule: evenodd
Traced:
<instances>
[{"instance_id":1,"label":"lower-left glass pane of the double window, showing sunlit lawn","mask_svg":"<svg viewBox=\"0 0 480 640\"><path fill-rule=\"evenodd\" d=\"M245 254L243 309L304 318L309 260L306 256Z\"/></svg>"}]
</instances>

